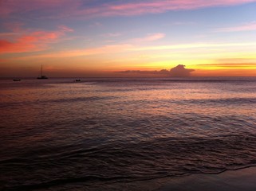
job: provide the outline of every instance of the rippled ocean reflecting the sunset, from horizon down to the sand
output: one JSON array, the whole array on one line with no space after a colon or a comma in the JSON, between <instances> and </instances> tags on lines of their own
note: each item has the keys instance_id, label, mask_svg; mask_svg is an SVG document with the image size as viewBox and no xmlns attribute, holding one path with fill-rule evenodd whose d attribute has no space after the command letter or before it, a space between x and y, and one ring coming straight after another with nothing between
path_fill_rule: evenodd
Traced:
<instances>
[{"instance_id":1,"label":"rippled ocean reflecting the sunset, from horizon down to the sand","mask_svg":"<svg viewBox=\"0 0 256 191\"><path fill-rule=\"evenodd\" d=\"M0 120L0 190L256 166L256 77L2 79Z\"/></svg>"}]
</instances>

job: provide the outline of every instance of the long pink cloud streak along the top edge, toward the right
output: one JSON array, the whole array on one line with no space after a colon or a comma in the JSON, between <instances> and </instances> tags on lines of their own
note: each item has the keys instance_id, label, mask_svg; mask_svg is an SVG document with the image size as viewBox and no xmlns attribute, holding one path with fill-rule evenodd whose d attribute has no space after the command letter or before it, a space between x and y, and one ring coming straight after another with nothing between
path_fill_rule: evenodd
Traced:
<instances>
[{"instance_id":1,"label":"long pink cloud streak along the top edge, toward the right","mask_svg":"<svg viewBox=\"0 0 256 191\"><path fill-rule=\"evenodd\" d=\"M89 10L79 10L77 15L95 16L133 16L140 14L160 14L168 10L195 10L211 6L234 6L255 0L173 0L173 1L147 1L131 2L122 4L105 4L90 8Z\"/></svg>"}]
</instances>

